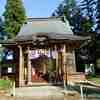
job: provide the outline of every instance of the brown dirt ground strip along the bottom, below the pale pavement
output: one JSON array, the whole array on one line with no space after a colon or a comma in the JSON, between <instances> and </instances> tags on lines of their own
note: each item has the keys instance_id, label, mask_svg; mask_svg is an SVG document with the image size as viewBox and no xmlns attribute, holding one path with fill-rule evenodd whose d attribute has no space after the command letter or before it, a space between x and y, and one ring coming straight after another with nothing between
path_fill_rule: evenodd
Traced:
<instances>
[{"instance_id":1,"label":"brown dirt ground strip along the bottom, below the pale pavement","mask_svg":"<svg viewBox=\"0 0 100 100\"><path fill-rule=\"evenodd\" d=\"M52 96L24 96L24 97L13 97L13 96L5 96L1 95L0 100L80 100L80 96L78 94L67 94L63 96L57 96L57 95L52 95Z\"/></svg>"}]
</instances>

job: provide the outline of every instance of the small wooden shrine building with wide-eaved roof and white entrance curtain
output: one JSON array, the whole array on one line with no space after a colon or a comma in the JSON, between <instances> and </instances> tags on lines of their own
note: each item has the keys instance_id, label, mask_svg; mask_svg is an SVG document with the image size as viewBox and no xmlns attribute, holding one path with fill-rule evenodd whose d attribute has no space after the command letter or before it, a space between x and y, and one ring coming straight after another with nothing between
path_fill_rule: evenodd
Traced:
<instances>
[{"instance_id":1,"label":"small wooden shrine building with wide-eaved roof and white entrance curtain","mask_svg":"<svg viewBox=\"0 0 100 100\"><path fill-rule=\"evenodd\" d=\"M29 18L14 39L1 44L14 52L16 86L25 86L67 81L64 76L76 72L74 50L88 39L73 35L61 17Z\"/></svg>"}]
</instances>

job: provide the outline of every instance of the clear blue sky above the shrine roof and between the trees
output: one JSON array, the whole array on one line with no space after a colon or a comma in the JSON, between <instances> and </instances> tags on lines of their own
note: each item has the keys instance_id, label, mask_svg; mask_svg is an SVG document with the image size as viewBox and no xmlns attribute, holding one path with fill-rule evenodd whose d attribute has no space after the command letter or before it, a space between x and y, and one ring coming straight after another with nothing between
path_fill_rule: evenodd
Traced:
<instances>
[{"instance_id":1,"label":"clear blue sky above the shrine roof and between the trees","mask_svg":"<svg viewBox=\"0 0 100 100\"><path fill-rule=\"evenodd\" d=\"M27 17L49 17L62 0L23 0ZM0 0L0 16L4 12L6 0Z\"/></svg>"}]
</instances>

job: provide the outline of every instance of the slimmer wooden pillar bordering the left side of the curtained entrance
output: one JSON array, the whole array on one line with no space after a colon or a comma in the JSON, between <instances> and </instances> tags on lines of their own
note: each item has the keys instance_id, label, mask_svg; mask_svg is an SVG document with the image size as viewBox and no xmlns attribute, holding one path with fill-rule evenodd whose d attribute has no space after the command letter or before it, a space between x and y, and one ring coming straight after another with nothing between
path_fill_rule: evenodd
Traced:
<instances>
[{"instance_id":1,"label":"slimmer wooden pillar bordering the left side of the curtained entrance","mask_svg":"<svg viewBox=\"0 0 100 100\"><path fill-rule=\"evenodd\" d=\"M32 66L31 66L31 60L30 60L30 57L29 57L29 51L30 51L30 48L27 47L27 52L28 52L28 84L30 85L32 83Z\"/></svg>"}]
</instances>

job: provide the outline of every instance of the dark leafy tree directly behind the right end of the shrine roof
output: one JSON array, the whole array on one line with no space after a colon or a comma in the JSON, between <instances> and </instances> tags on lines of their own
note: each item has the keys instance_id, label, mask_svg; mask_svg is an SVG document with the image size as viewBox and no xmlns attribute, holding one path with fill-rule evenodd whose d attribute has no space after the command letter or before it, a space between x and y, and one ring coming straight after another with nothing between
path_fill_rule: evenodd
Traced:
<instances>
[{"instance_id":1,"label":"dark leafy tree directly behind the right end of the shrine roof","mask_svg":"<svg viewBox=\"0 0 100 100\"><path fill-rule=\"evenodd\" d=\"M75 0L64 0L53 12L52 16L65 16L72 26L74 34L77 35L90 32L93 26L87 16L83 16Z\"/></svg>"}]
</instances>

